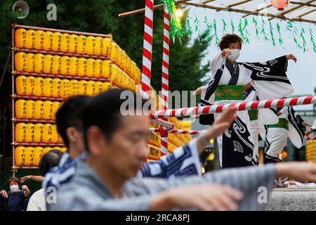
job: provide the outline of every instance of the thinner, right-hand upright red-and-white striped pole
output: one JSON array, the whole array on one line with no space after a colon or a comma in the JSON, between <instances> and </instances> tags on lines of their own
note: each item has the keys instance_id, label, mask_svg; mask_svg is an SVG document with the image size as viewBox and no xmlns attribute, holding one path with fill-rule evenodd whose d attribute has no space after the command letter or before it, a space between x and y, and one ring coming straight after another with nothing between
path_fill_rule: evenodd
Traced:
<instances>
[{"instance_id":1,"label":"thinner, right-hand upright red-and-white striped pole","mask_svg":"<svg viewBox=\"0 0 316 225\"><path fill-rule=\"evenodd\" d=\"M169 101L169 11L164 6L164 36L162 48L162 109L168 109ZM166 119L165 119L166 120ZM168 154L168 131L161 127L160 155Z\"/></svg>"}]
</instances>

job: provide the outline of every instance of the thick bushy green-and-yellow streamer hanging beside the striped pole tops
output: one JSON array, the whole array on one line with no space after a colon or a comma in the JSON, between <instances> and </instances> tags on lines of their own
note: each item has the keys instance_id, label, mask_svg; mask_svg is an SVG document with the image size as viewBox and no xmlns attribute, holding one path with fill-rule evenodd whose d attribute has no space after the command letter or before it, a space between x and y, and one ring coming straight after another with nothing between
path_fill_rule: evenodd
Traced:
<instances>
[{"instance_id":1,"label":"thick bushy green-and-yellow streamer hanging beside the striped pole tops","mask_svg":"<svg viewBox=\"0 0 316 225\"><path fill-rule=\"evenodd\" d=\"M173 37L173 42L175 37L178 37L180 40L185 34L185 30L183 29L181 20L176 18L176 4L174 0L162 0L164 1L165 7L169 10L169 18L170 18L170 34Z\"/></svg>"}]
</instances>

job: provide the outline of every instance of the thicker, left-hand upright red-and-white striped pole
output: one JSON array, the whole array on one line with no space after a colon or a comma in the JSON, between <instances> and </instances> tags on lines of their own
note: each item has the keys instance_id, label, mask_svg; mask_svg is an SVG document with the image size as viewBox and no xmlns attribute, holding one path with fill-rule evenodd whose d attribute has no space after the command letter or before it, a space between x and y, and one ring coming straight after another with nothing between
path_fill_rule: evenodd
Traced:
<instances>
[{"instance_id":1,"label":"thicker, left-hand upright red-and-white striped pole","mask_svg":"<svg viewBox=\"0 0 316 225\"><path fill-rule=\"evenodd\" d=\"M145 0L145 23L143 42L143 68L141 95L150 99L150 79L152 71L152 28L154 24L154 0Z\"/></svg>"}]
</instances>

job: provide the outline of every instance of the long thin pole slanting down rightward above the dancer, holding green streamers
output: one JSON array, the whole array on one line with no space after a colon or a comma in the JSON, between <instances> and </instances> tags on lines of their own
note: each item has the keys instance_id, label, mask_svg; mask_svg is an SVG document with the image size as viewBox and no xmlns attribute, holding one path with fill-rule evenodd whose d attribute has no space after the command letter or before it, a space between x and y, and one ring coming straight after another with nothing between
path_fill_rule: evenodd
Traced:
<instances>
[{"instance_id":1,"label":"long thin pole slanting down rightward above the dancer, holding green streamers","mask_svg":"<svg viewBox=\"0 0 316 225\"><path fill-rule=\"evenodd\" d=\"M225 7L218 7L218 6L209 6L207 4L201 4L201 3L196 3L196 2L184 2L181 3L182 5L187 5L187 6L196 6L196 7L201 7L201 8L210 8L216 11L228 11L228 12L236 12L236 13L249 13L249 14L254 14L254 15L260 15L259 12L255 11L248 11L248 10L242 10L239 8L225 8ZM285 15L274 15L272 13L266 13L267 16L271 18L279 18L282 20L293 20L293 21L299 21L299 22L306 22L306 23L313 23L316 25L315 20L308 20L308 19L303 19L303 18L287 18Z\"/></svg>"}]
</instances>

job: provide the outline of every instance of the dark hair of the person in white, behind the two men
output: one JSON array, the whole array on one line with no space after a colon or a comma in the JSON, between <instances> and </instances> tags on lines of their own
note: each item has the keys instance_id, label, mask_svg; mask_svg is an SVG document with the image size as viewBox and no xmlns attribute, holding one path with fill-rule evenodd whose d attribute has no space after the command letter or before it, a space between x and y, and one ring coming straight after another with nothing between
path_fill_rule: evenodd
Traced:
<instances>
[{"instance_id":1,"label":"dark hair of the person in white, behind the two men","mask_svg":"<svg viewBox=\"0 0 316 225\"><path fill-rule=\"evenodd\" d=\"M43 155L39 161L39 173L41 176L45 176L49 169L57 167L61 157L62 152L60 150L50 150Z\"/></svg>"}]
</instances>

